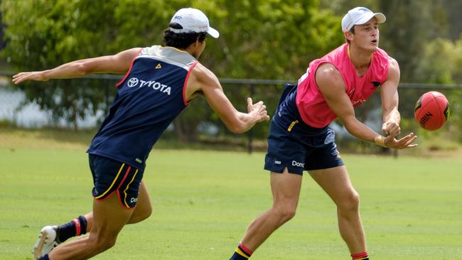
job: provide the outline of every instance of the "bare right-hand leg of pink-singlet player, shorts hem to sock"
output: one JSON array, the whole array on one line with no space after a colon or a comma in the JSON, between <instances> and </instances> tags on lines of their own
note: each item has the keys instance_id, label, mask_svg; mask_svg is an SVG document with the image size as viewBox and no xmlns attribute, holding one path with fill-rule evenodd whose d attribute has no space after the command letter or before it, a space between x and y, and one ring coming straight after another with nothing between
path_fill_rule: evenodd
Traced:
<instances>
[{"instance_id":1,"label":"bare right-hand leg of pink-singlet player, shorts hem to sock","mask_svg":"<svg viewBox=\"0 0 462 260\"><path fill-rule=\"evenodd\" d=\"M350 253L366 251L359 212L359 195L350 182L345 166L311 170L310 175L337 205L338 228Z\"/></svg>"}]
</instances>

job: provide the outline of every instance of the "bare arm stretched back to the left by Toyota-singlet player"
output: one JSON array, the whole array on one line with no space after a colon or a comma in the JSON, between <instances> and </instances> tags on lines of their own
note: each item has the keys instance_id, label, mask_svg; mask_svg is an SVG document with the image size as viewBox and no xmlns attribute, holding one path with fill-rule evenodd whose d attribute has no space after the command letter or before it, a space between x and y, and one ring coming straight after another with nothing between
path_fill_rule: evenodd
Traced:
<instances>
[{"instance_id":1,"label":"bare arm stretched back to the left by Toyota-singlet player","mask_svg":"<svg viewBox=\"0 0 462 260\"><path fill-rule=\"evenodd\" d=\"M51 70L21 72L13 76L13 82L14 84L19 84L26 80L48 81L50 79L69 79L92 73L124 74L129 70L131 60L138 55L140 50L141 48L132 48L116 55L75 60Z\"/></svg>"}]
</instances>

